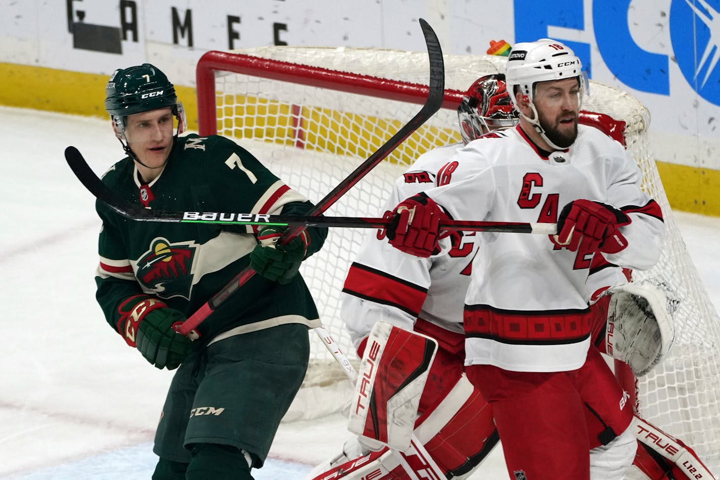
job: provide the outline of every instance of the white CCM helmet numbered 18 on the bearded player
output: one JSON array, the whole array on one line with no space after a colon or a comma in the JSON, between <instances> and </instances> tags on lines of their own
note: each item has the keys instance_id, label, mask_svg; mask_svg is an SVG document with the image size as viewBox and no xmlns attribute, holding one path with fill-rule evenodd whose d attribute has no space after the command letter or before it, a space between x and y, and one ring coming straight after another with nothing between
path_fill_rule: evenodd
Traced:
<instances>
[{"instance_id":1,"label":"white CCM helmet numbered 18 on the bearded player","mask_svg":"<svg viewBox=\"0 0 720 480\"><path fill-rule=\"evenodd\" d=\"M540 81L572 79L577 77L578 110L582 106L583 95L588 94L588 76L582 71L582 62L566 45L557 40L544 38L536 42L518 43L508 56L505 68L505 82L513 105L518 108L518 98L528 102L533 118L521 115L552 148L563 148L550 141L540 126L539 115L533 102L535 86ZM519 110L519 108L518 108Z\"/></svg>"}]
</instances>

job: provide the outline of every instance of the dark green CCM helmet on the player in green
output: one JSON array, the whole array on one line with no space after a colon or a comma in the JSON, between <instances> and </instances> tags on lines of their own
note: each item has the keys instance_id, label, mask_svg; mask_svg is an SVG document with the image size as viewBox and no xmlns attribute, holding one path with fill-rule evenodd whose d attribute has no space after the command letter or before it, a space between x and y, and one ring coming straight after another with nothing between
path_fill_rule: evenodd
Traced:
<instances>
[{"instance_id":1,"label":"dark green CCM helmet on the player in green","mask_svg":"<svg viewBox=\"0 0 720 480\"><path fill-rule=\"evenodd\" d=\"M106 86L105 110L110 114L115 135L125 138L127 116L169 107L178 120L177 135L186 129L187 120L182 104L178 102L175 86L156 66L118 68Z\"/></svg>"}]
</instances>

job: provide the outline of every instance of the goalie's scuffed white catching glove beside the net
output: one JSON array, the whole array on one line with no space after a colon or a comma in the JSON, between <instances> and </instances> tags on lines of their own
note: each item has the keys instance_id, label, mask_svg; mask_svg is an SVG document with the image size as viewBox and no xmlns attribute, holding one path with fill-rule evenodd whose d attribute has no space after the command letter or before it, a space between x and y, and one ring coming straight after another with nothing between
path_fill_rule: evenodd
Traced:
<instances>
[{"instance_id":1,"label":"goalie's scuffed white catching glove beside the net","mask_svg":"<svg viewBox=\"0 0 720 480\"><path fill-rule=\"evenodd\" d=\"M657 285L625 283L606 290L608 306L606 350L627 363L636 377L662 362L675 339L672 313L678 300Z\"/></svg>"}]
</instances>

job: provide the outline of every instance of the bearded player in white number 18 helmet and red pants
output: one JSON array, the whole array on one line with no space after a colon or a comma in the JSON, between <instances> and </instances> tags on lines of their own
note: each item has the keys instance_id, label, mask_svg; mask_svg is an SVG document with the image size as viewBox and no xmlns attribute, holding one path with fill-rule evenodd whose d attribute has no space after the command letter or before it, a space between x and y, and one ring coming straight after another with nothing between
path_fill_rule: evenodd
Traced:
<instances>
[{"instance_id":1,"label":"bearded player in white number 18 helmet and red pants","mask_svg":"<svg viewBox=\"0 0 720 480\"><path fill-rule=\"evenodd\" d=\"M597 355L590 261L601 252L614 265L652 267L662 213L624 149L577 126L586 80L572 50L552 40L518 44L506 74L520 125L457 151L447 182L395 208L388 237L430 257L442 218L559 223L552 239L478 236L464 309L466 372L493 407L511 478L588 479L593 439L580 371ZM630 409L623 399L606 403Z\"/></svg>"}]
</instances>

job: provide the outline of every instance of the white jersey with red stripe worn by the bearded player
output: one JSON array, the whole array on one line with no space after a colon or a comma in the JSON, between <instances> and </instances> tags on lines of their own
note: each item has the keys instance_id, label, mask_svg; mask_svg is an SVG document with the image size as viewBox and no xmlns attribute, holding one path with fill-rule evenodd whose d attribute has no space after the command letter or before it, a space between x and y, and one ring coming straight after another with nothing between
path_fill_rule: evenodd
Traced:
<instances>
[{"instance_id":1,"label":"white jersey with red stripe worn by the bearded player","mask_svg":"<svg viewBox=\"0 0 720 480\"><path fill-rule=\"evenodd\" d=\"M660 207L640 189L642 174L624 148L578 125L575 143L546 154L518 126L490 133L456 151L447 185L426 190L452 218L469 221L557 221L572 200L620 208L624 250L603 254L613 265L646 270L660 256ZM592 255L570 252L547 236L482 234L465 299L466 365L516 371L580 368L589 337L585 280Z\"/></svg>"}]
</instances>

